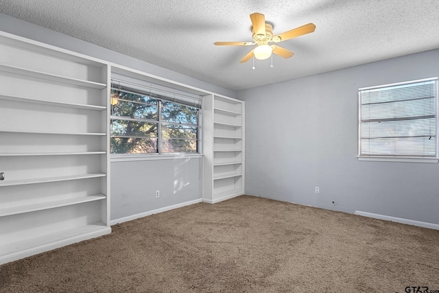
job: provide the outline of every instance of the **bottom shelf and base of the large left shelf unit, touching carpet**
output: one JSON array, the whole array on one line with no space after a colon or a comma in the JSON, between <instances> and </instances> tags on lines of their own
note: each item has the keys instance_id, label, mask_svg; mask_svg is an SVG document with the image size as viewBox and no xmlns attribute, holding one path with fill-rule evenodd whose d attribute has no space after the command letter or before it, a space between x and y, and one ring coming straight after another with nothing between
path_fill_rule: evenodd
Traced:
<instances>
[{"instance_id":1,"label":"bottom shelf and base of the large left shelf unit, touching carpet","mask_svg":"<svg viewBox=\"0 0 439 293\"><path fill-rule=\"evenodd\" d=\"M0 264L109 233L111 233L110 226L99 222L11 242L0 246Z\"/></svg>"}]
</instances>

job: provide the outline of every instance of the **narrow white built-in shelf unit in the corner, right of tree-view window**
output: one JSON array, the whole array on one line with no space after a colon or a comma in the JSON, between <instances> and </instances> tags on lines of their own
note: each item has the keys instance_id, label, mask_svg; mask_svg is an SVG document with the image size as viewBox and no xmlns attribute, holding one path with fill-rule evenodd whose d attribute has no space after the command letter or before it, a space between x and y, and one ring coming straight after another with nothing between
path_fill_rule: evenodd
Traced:
<instances>
[{"instance_id":1,"label":"narrow white built-in shelf unit in the corner, right of tree-view window","mask_svg":"<svg viewBox=\"0 0 439 293\"><path fill-rule=\"evenodd\" d=\"M204 180L206 202L244 194L244 102L220 95L203 99Z\"/></svg>"}]
</instances>

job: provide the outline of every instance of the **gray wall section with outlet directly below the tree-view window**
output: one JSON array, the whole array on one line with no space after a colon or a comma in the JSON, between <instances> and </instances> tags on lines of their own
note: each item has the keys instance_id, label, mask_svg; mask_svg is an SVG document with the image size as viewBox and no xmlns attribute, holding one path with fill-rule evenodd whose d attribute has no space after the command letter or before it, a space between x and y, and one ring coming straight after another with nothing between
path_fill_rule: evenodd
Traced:
<instances>
[{"instance_id":1,"label":"gray wall section with outlet directly below the tree-view window","mask_svg":"<svg viewBox=\"0 0 439 293\"><path fill-rule=\"evenodd\" d=\"M111 163L111 220L201 198L202 157Z\"/></svg>"}]
</instances>

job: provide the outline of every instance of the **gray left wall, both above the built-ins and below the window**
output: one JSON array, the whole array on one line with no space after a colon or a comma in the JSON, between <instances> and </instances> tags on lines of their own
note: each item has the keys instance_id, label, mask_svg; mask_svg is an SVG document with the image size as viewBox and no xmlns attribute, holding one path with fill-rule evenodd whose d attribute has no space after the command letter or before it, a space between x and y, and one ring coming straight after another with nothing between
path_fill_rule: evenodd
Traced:
<instances>
[{"instance_id":1,"label":"gray left wall, both above the built-ins and below the window","mask_svg":"<svg viewBox=\"0 0 439 293\"><path fill-rule=\"evenodd\" d=\"M234 91L0 14L0 30L230 97ZM111 163L111 220L201 200L202 158ZM160 190L160 198L155 191Z\"/></svg>"}]
</instances>

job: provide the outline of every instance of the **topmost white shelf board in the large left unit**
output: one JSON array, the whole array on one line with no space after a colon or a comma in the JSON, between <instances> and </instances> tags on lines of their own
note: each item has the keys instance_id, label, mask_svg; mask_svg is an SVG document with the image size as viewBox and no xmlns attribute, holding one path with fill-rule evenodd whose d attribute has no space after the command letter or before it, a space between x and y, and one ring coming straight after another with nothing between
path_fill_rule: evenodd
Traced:
<instances>
[{"instance_id":1,"label":"topmost white shelf board in the large left unit","mask_svg":"<svg viewBox=\"0 0 439 293\"><path fill-rule=\"evenodd\" d=\"M43 71L36 71L32 69L26 69L23 67L16 67L13 65L5 65L0 63L0 71L9 73L30 76L32 78L40 78L43 80L50 80L52 82L62 82L64 84L73 84L75 86L85 86L91 89L105 89L106 84L100 82L91 82L89 80L80 80L78 78L69 78L63 75L56 75L52 73L45 73Z\"/></svg>"}]
</instances>

